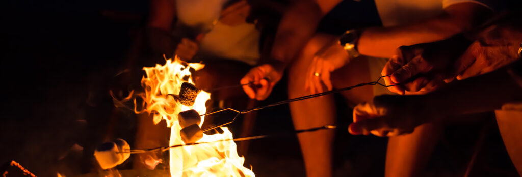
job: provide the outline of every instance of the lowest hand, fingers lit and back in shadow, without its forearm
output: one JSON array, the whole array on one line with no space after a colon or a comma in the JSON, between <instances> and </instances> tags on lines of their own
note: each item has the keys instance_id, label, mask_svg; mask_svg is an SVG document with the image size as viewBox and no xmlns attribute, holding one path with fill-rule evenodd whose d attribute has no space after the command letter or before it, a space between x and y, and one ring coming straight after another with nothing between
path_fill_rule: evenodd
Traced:
<instances>
[{"instance_id":1,"label":"lowest hand, fingers lit and back in shadow, without its forearm","mask_svg":"<svg viewBox=\"0 0 522 177\"><path fill-rule=\"evenodd\" d=\"M381 95L372 103L353 108L353 123L348 131L353 135L398 136L408 134L435 116L419 95Z\"/></svg>"}]
</instances>

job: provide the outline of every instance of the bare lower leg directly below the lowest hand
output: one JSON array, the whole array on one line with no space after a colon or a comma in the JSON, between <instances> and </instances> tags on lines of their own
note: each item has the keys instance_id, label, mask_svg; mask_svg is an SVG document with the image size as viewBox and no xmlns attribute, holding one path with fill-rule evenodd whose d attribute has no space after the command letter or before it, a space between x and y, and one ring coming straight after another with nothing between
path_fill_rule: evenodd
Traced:
<instances>
[{"instance_id":1,"label":"bare lower leg directly below the lowest hand","mask_svg":"<svg viewBox=\"0 0 522 177\"><path fill-rule=\"evenodd\" d=\"M426 123L408 135L390 137L386 176L421 176L442 133L438 123Z\"/></svg>"}]
</instances>

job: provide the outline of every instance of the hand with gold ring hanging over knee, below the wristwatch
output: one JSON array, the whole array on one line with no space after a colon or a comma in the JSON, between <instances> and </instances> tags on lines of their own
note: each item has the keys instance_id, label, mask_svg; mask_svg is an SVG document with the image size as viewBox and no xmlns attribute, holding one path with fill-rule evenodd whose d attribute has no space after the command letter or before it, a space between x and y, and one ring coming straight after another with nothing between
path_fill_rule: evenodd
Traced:
<instances>
[{"instance_id":1,"label":"hand with gold ring hanging over knee, below the wristwatch","mask_svg":"<svg viewBox=\"0 0 522 177\"><path fill-rule=\"evenodd\" d=\"M333 89L330 81L330 73L346 65L349 61L348 53L337 43L325 45L315 54L312 63L306 72L305 89L311 94L324 92L324 86L328 91Z\"/></svg>"}]
</instances>

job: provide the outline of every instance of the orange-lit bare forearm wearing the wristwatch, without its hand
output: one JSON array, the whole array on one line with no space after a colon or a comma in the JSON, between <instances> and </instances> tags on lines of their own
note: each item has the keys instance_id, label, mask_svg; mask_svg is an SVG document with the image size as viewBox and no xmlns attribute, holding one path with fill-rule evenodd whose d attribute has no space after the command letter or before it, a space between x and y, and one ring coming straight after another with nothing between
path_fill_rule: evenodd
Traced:
<instances>
[{"instance_id":1,"label":"orange-lit bare forearm wearing the wristwatch, without its hand","mask_svg":"<svg viewBox=\"0 0 522 177\"><path fill-rule=\"evenodd\" d=\"M468 31L492 14L491 9L476 3L448 6L444 13L427 21L407 26L365 29L358 49L363 55L391 57L403 45L433 42Z\"/></svg>"}]
</instances>

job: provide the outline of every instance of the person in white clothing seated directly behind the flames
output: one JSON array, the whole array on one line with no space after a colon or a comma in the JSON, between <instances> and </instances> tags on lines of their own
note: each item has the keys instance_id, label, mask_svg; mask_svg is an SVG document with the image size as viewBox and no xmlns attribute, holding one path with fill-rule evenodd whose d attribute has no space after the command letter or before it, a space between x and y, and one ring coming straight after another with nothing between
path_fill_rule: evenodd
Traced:
<instances>
[{"instance_id":1,"label":"person in white clothing seated directly behind the flames","mask_svg":"<svg viewBox=\"0 0 522 177\"><path fill-rule=\"evenodd\" d=\"M214 88L237 85L241 76L259 61L260 33L253 23L246 22L250 4L246 0L152 0L150 8L148 42L153 52L159 54L157 57L204 62L205 67L192 75L195 85L210 92L215 103L245 109L247 104L238 104L248 102L240 87ZM211 117L205 122L212 126ZM168 146L169 134L164 123L154 125L148 115L141 115L135 147ZM146 161L159 158L141 154L136 159L135 168L153 169Z\"/></svg>"}]
</instances>

